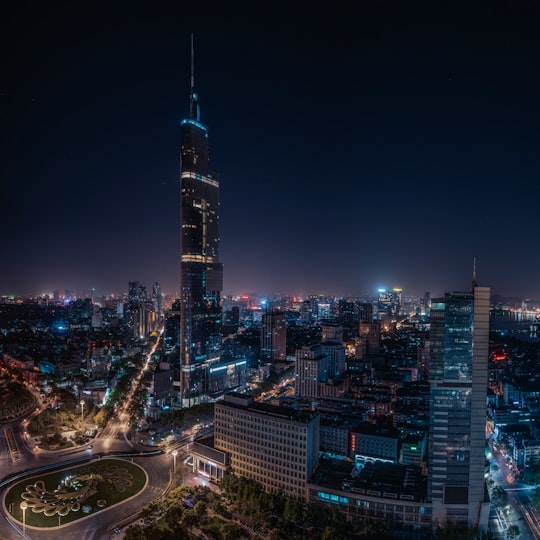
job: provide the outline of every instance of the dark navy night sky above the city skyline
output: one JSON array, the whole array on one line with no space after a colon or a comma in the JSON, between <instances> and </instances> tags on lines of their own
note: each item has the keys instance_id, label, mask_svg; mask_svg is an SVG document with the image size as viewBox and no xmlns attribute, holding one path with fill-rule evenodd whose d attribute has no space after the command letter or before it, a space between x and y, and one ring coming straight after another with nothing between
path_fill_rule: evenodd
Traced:
<instances>
[{"instance_id":1,"label":"dark navy night sky above the city skyline","mask_svg":"<svg viewBox=\"0 0 540 540\"><path fill-rule=\"evenodd\" d=\"M183 4L4 8L0 294L177 294L193 32L224 294L540 299L537 2Z\"/></svg>"}]
</instances>

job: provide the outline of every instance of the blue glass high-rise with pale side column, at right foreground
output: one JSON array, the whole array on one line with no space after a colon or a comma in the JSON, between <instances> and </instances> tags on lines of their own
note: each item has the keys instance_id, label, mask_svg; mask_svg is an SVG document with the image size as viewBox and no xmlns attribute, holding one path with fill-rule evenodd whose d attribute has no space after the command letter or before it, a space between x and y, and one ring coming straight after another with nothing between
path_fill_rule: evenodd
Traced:
<instances>
[{"instance_id":1,"label":"blue glass high-rise with pale side column, at right foreground","mask_svg":"<svg viewBox=\"0 0 540 540\"><path fill-rule=\"evenodd\" d=\"M487 528L489 288L431 302L428 499L434 524Z\"/></svg>"}]
</instances>

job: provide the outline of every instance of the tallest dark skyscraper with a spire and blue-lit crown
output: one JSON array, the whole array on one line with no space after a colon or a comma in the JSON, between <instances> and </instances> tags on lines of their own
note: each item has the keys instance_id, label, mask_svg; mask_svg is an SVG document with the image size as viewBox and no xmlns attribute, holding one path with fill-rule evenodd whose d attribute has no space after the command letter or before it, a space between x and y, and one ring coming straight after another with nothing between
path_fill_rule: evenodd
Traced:
<instances>
[{"instance_id":1,"label":"tallest dark skyscraper with a spire and blue-lit crown","mask_svg":"<svg viewBox=\"0 0 540 540\"><path fill-rule=\"evenodd\" d=\"M200 120L191 42L189 118L180 138L180 380L182 406L204 399L208 372L221 357L223 265L219 262L219 178L210 167L208 130Z\"/></svg>"}]
</instances>

